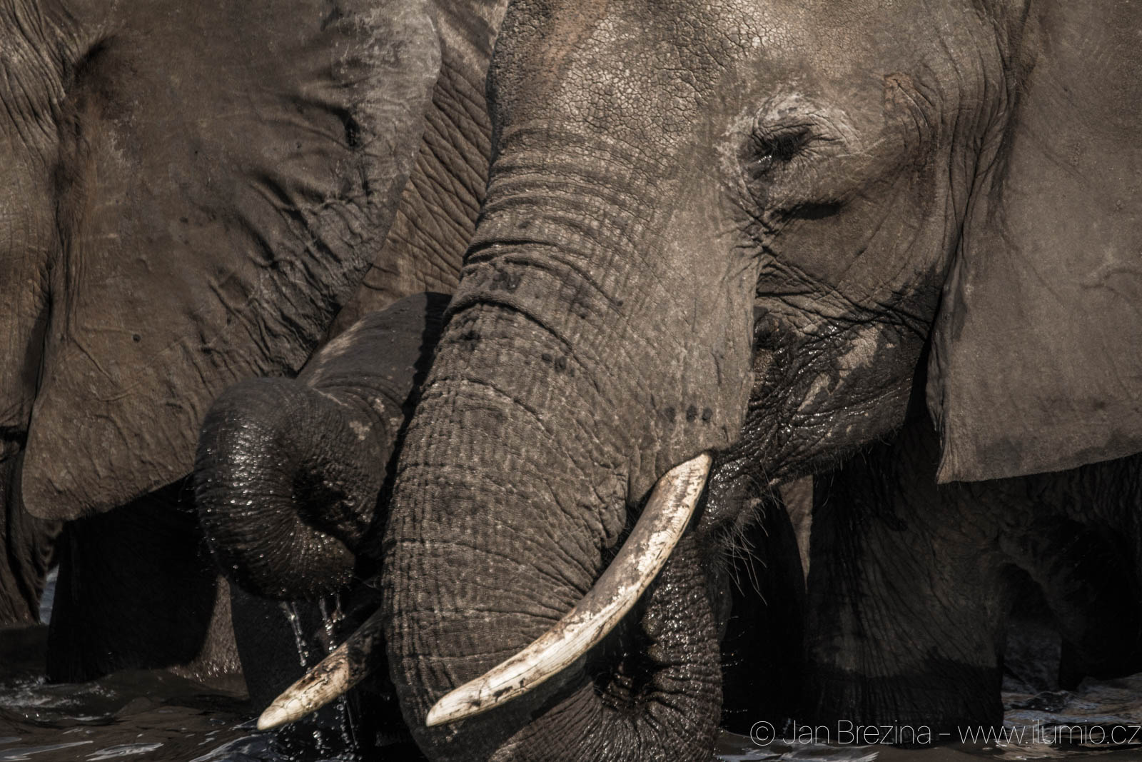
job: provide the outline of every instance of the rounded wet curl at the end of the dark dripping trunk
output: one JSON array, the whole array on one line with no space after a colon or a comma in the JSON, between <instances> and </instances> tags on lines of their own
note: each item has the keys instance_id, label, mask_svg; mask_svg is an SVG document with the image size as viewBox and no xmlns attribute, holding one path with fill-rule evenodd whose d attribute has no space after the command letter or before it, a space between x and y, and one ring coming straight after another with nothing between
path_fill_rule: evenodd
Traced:
<instances>
[{"instance_id":1,"label":"rounded wet curl at the end of the dark dripping trunk","mask_svg":"<svg viewBox=\"0 0 1142 762\"><path fill-rule=\"evenodd\" d=\"M223 572L280 600L315 600L348 584L391 439L383 420L300 382L227 390L203 423L194 479Z\"/></svg>"}]
</instances>

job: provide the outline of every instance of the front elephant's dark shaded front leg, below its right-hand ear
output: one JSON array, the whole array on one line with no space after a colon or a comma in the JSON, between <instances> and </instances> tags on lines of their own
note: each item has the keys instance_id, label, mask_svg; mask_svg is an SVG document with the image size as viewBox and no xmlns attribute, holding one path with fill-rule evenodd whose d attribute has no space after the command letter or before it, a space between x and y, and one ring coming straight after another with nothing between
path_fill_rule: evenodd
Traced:
<instances>
[{"instance_id":1,"label":"front elephant's dark shaded front leg, below its right-hand ear","mask_svg":"<svg viewBox=\"0 0 1142 762\"><path fill-rule=\"evenodd\" d=\"M991 725L1005 575L989 506L938 488L927 419L815 479L809 576L809 720L939 733ZM918 740L908 737L900 743ZM943 740L951 740L944 738Z\"/></svg>"}]
</instances>

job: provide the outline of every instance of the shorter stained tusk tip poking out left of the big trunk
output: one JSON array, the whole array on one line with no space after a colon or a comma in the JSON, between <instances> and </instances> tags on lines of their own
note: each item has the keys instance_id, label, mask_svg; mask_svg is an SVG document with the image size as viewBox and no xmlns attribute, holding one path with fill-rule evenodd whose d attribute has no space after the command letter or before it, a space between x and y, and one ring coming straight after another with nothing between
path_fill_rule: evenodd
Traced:
<instances>
[{"instance_id":1,"label":"shorter stained tusk tip poking out left of the big trunk","mask_svg":"<svg viewBox=\"0 0 1142 762\"><path fill-rule=\"evenodd\" d=\"M258 730L300 720L361 682L379 663L370 657L380 651L380 611L377 611L321 664L275 698L258 717Z\"/></svg>"}]
</instances>

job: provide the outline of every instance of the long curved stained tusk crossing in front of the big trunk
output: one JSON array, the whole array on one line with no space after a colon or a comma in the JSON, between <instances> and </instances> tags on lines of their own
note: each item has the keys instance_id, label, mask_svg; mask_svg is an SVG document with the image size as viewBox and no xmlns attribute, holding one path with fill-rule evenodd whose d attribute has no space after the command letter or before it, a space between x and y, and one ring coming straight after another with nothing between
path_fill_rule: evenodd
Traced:
<instances>
[{"instance_id":1,"label":"long curved stained tusk crossing in front of the big trunk","mask_svg":"<svg viewBox=\"0 0 1142 762\"><path fill-rule=\"evenodd\" d=\"M456 722L499 706L540 684L603 640L677 545L709 470L710 456L702 454L658 480L627 542L579 604L531 645L436 701L425 724Z\"/></svg>"}]
</instances>

